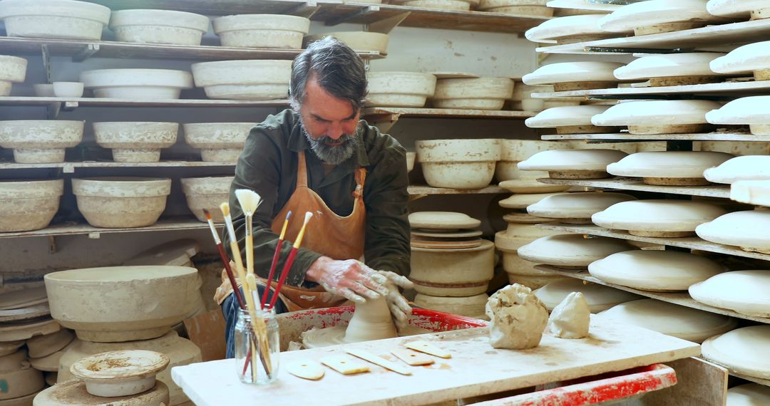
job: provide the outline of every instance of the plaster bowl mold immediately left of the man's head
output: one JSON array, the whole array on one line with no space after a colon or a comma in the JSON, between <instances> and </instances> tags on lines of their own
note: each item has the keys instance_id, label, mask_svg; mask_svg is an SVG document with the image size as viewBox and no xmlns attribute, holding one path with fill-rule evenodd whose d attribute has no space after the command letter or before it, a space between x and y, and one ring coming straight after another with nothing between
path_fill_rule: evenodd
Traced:
<instances>
[{"instance_id":1,"label":"plaster bowl mold immediately left of the man's head","mask_svg":"<svg viewBox=\"0 0 770 406\"><path fill-rule=\"evenodd\" d=\"M192 64L195 85L209 98L273 100L289 95L292 61L236 60Z\"/></svg>"}]
</instances>

